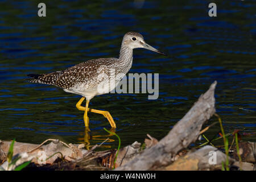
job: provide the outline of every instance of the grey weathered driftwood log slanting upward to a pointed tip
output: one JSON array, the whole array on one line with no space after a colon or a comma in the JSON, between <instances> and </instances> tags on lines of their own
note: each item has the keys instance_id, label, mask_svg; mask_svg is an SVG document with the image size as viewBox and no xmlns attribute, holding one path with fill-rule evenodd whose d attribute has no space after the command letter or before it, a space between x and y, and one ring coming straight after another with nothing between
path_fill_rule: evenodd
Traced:
<instances>
[{"instance_id":1,"label":"grey weathered driftwood log slanting upward to a pointed tip","mask_svg":"<svg viewBox=\"0 0 256 182\"><path fill-rule=\"evenodd\" d=\"M210 85L209 90L199 97L199 100L166 137L116 170L152 170L170 164L177 152L197 140L202 125L215 113L216 84L217 81L214 81Z\"/></svg>"}]
</instances>

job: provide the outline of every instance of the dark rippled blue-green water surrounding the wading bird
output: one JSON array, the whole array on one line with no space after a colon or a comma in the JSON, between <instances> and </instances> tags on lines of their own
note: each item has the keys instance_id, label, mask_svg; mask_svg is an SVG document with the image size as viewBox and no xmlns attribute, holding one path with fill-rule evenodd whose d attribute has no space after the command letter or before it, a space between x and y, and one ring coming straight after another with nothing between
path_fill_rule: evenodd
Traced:
<instances>
[{"instance_id":1,"label":"dark rippled blue-green water surrounding the wading bird","mask_svg":"<svg viewBox=\"0 0 256 182\"><path fill-rule=\"evenodd\" d=\"M84 131L83 113L75 107L80 96L24 79L117 57L122 36L137 31L169 55L134 50L130 73L159 73L158 100L105 94L90 101L90 107L110 111L122 146L143 142L146 134L164 137L214 80L225 131L241 129L249 134L243 140L255 141L255 4L217 1L217 17L210 18L205 1L59 1L46 3L47 17L39 18L34 1L0 1L0 139L105 140L103 128L110 125L102 115L89 113L91 132ZM214 125L205 135L217 137L219 130ZM104 147L116 148L117 138L110 139Z\"/></svg>"}]
</instances>

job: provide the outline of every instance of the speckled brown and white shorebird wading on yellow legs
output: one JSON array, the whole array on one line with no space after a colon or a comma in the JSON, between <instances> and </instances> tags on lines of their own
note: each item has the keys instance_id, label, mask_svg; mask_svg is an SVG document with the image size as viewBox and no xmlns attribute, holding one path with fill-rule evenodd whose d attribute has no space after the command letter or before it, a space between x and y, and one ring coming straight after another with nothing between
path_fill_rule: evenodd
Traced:
<instances>
[{"instance_id":1,"label":"speckled brown and white shorebird wading on yellow legs","mask_svg":"<svg viewBox=\"0 0 256 182\"><path fill-rule=\"evenodd\" d=\"M135 48L144 48L165 55L163 52L158 51L158 49L148 45L141 34L137 32L127 32L123 36L119 58L93 59L67 68L64 71L56 71L47 74L29 74L27 76L31 78L28 78L28 80L40 84L59 86L65 92L81 95L82 98L77 102L76 107L84 111L84 124L86 128L89 129L88 111L104 115L110 125L116 128L109 111L90 109L89 101L94 96L109 93L118 85L122 77L131 68L133 63L133 49ZM108 79L107 81L104 80L105 78L111 77L110 72L113 70L115 75L119 76L114 77L114 84L108 84ZM102 75L105 75L105 77L102 77ZM99 86L102 85L102 82L103 88L107 89L99 90ZM85 98L86 104L84 107L81 106L81 104Z\"/></svg>"}]
</instances>

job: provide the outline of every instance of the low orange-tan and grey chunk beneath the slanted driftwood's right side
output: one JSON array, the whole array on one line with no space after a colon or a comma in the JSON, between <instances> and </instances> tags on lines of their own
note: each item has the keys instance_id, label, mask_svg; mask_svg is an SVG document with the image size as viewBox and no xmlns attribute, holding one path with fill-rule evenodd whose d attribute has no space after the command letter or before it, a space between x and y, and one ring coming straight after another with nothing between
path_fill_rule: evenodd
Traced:
<instances>
[{"instance_id":1,"label":"low orange-tan and grey chunk beneath the slanted driftwood's right side","mask_svg":"<svg viewBox=\"0 0 256 182\"><path fill-rule=\"evenodd\" d=\"M201 170L221 170L222 162L225 163L226 155L213 146L205 146L180 157L170 166L163 168L167 171L201 171ZM229 164L233 164L234 159L229 158Z\"/></svg>"}]
</instances>

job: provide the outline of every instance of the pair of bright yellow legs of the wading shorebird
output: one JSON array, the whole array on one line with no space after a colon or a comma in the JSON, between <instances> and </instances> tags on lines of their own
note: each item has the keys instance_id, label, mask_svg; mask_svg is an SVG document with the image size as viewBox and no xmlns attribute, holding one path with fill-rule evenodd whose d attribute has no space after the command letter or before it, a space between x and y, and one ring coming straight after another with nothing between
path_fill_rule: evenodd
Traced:
<instances>
[{"instance_id":1,"label":"pair of bright yellow legs of the wading shorebird","mask_svg":"<svg viewBox=\"0 0 256 182\"><path fill-rule=\"evenodd\" d=\"M92 112L92 113L102 114L102 115L104 115L105 118L108 119L108 121L109 121L111 127L113 127L113 128L116 128L116 127L117 127L117 126L115 126L114 119L113 119L112 116L110 115L109 111L96 110L96 109L89 109L89 107L88 107L88 106L89 106L89 101L86 101L86 106L85 106L85 107L81 106L82 101L84 101L84 99L85 99L85 98L82 97L82 98L80 99L80 101L77 102L76 107L77 107L77 109L79 109L79 110L84 110L87 118L88 118L88 116L87 116L87 111L90 111L90 112ZM84 121L85 121L85 115L84 115ZM86 123L86 122L85 122L85 123ZM85 124L85 127L86 127L86 124ZM88 127L89 127L89 118L88 118Z\"/></svg>"}]
</instances>

